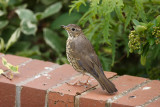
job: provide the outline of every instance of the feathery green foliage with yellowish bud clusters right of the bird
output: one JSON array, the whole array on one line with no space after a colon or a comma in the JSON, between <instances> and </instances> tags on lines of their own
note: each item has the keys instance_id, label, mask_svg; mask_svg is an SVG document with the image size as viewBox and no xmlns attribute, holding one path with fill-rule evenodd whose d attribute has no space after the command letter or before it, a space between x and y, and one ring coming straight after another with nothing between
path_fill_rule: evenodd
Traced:
<instances>
[{"instance_id":1,"label":"feathery green foliage with yellowish bud clusters right of the bird","mask_svg":"<svg viewBox=\"0 0 160 107\"><path fill-rule=\"evenodd\" d=\"M82 3L89 9L79 24L85 27L85 34L94 45L105 70L112 68L119 74L125 70L131 75L160 78L150 76L160 63L158 0L77 0L72 2L70 11L73 8L79 10ZM132 72L134 68L138 69L135 73Z\"/></svg>"}]
</instances>

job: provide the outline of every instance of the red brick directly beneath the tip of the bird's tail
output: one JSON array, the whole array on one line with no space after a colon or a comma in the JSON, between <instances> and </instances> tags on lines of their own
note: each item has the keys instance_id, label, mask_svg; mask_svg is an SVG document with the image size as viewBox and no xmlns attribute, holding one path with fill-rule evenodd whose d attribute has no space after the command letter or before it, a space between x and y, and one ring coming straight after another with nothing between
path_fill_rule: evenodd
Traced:
<instances>
[{"instance_id":1,"label":"red brick directly beneath the tip of the bird's tail","mask_svg":"<svg viewBox=\"0 0 160 107\"><path fill-rule=\"evenodd\" d=\"M114 95L108 95L105 91L101 89L101 87L98 87L95 90L92 90L80 96L79 107L105 107L106 101L109 98L112 98L124 91L127 91L144 81L146 81L145 78L128 75L121 76L112 81L116 85L118 93Z\"/></svg>"}]
</instances>

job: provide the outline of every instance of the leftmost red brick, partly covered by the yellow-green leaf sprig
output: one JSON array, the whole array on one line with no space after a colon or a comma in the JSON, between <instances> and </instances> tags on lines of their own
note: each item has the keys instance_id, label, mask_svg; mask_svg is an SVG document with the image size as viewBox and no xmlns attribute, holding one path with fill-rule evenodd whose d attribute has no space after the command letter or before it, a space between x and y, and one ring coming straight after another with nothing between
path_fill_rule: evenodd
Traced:
<instances>
[{"instance_id":1,"label":"leftmost red brick, partly covered by the yellow-green leaf sprig","mask_svg":"<svg viewBox=\"0 0 160 107\"><path fill-rule=\"evenodd\" d=\"M28 58L13 56L13 55L5 55L4 58L13 65L21 64L28 60ZM6 70L6 68L2 65L2 60L0 58L0 69ZM19 74L17 74L19 75ZM17 76L15 76L16 78ZM15 95L16 95L16 79L10 81L3 76L0 76L0 106L1 107L12 107L15 104Z\"/></svg>"}]
</instances>

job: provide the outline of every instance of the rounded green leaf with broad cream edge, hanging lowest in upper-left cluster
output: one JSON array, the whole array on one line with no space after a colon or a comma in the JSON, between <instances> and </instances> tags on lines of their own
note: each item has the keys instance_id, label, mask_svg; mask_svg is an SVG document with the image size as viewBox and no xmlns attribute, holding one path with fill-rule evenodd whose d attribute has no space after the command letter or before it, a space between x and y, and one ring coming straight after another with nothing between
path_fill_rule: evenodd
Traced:
<instances>
[{"instance_id":1,"label":"rounded green leaf with broad cream edge, hanging lowest in upper-left cluster","mask_svg":"<svg viewBox=\"0 0 160 107\"><path fill-rule=\"evenodd\" d=\"M21 28L22 28L22 32L26 35L35 35L36 31L37 31L37 26L36 24L32 23L29 20L22 20L21 21Z\"/></svg>"}]
</instances>

